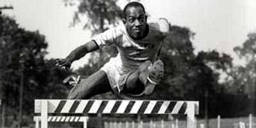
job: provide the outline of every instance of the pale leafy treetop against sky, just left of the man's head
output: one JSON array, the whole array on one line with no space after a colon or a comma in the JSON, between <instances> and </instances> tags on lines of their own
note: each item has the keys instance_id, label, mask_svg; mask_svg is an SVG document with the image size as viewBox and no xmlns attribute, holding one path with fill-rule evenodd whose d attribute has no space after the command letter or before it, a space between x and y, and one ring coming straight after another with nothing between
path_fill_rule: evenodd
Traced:
<instances>
[{"instance_id":1,"label":"pale leafy treetop against sky, just left of the man's head","mask_svg":"<svg viewBox=\"0 0 256 128\"><path fill-rule=\"evenodd\" d=\"M64 0L66 5L74 6L74 1ZM82 0L79 1L77 11L74 12L72 26L81 22L81 16L86 15L87 21L84 29L90 29L93 34L108 29L109 25L115 25L122 17L122 10L116 4L117 0Z\"/></svg>"}]
</instances>

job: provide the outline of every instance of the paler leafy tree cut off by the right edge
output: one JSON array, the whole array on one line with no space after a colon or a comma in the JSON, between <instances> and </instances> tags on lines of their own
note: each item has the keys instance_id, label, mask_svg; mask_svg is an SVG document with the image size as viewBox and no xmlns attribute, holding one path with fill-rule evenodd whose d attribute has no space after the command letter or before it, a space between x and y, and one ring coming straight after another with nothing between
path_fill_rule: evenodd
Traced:
<instances>
[{"instance_id":1,"label":"paler leafy tree cut off by the right edge","mask_svg":"<svg viewBox=\"0 0 256 128\"><path fill-rule=\"evenodd\" d=\"M256 33L249 33L248 39L242 46L234 48L239 58L246 60L244 66L237 67L232 72L232 78L236 86L239 85L248 94L250 99L250 113L255 114L255 54L256 54Z\"/></svg>"}]
</instances>

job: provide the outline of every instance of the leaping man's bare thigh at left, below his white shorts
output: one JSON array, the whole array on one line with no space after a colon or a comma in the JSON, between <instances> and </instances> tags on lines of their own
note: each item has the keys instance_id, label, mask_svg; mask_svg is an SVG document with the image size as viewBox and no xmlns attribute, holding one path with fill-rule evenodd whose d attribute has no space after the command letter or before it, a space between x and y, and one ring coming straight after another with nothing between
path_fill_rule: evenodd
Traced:
<instances>
[{"instance_id":1,"label":"leaping man's bare thigh at left, below his white shorts","mask_svg":"<svg viewBox=\"0 0 256 128\"><path fill-rule=\"evenodd\" d=\"M70 90L68 99L90 99L94 95L109 91L111 87L108 77L104 71L99 70L86 79L81 79L81 82Z\"/></svg>"}]
</instances>

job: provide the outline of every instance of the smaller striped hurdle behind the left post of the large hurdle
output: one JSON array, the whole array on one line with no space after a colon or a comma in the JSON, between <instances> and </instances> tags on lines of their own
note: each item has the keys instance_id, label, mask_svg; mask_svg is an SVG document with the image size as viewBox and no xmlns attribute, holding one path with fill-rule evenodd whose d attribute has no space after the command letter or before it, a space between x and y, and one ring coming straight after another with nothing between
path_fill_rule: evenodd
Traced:
<instances>
[{"instance_id":1,"label":"smaller striped hurdle behind the left post of the large hurdle","mask_svg":"<svg viewBox=\"0 0 256 128\"><path fill-rule=\"evenodd\" d=\"M83 122L83 127L87 127L87 116L48 116L47 122ZM41 116L34 116L36 128L39 128Z\"/></svg>"}]
</instances>

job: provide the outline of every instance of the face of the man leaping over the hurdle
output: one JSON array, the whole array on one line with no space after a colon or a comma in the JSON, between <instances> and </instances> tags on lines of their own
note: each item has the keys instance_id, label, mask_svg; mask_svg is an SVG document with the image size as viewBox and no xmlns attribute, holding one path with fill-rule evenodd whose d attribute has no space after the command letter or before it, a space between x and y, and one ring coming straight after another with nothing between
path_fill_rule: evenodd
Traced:
<instances>
[{"instance_id":1,"label":"face of the man leaping over the hurdle","mask_svg":"<svg viewBox=\"0 0 256 128\"><path fill-rule=\"evenodd\" d=\"M141 39L145 35L147 15L140 6L127 8L124 24L131 38Z\"/></svg>"}]
</instances>

